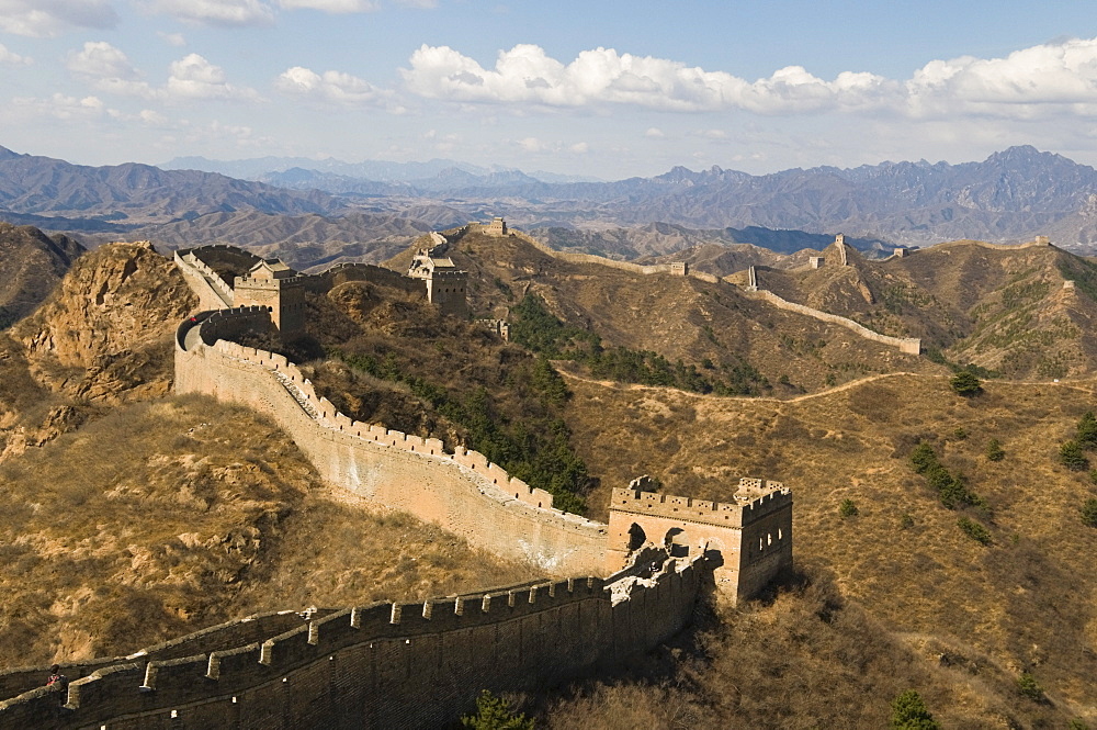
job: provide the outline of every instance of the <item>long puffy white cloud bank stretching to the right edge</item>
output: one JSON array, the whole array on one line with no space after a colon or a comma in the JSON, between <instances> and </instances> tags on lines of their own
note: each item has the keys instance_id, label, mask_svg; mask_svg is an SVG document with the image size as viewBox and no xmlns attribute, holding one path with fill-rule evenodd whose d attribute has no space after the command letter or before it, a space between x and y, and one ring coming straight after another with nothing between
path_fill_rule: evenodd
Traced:
<instances>
[{"instance_id":1,"label":"long puffy white cloud bank stretching to the right edge","mask_svg":"<svg viewBox=\"0 0 1097 730\"><path fill-rule=\"evenodd\" d=\"M402 69L421 97L456 102L607 104L672 112L745 110L758 114L885 111L913 117L979 112L1029 119L1097 112L1097 38L1017 50L1005 58L934 60L909 79L842 71L833 80L789 66L755 81L679 61L584 50L568 64L535 45L501 50L485 68L449 46L423 45ZM658 136L648 134L648 136Z\"/></svg>"}]
</instances>

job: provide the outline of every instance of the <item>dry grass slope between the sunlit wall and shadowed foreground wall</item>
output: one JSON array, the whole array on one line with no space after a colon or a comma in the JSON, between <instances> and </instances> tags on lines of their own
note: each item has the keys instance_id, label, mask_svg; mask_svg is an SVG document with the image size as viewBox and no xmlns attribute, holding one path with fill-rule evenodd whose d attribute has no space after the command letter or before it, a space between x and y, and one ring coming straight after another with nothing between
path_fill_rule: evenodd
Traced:
<instances>
[{"instance_id":1,"label":"dry grass slope between the sunlit wall and shadowed foreground wall","mask_svg":"<svg viewBox=\"0 0 1097 730\"><path fill-rule=\"evenodd\" d=\"M0 666L112 655L249 613L530 577L335 501L281 431L207 398L121 406L0 464Z\"/></svg>"}]
</instances>

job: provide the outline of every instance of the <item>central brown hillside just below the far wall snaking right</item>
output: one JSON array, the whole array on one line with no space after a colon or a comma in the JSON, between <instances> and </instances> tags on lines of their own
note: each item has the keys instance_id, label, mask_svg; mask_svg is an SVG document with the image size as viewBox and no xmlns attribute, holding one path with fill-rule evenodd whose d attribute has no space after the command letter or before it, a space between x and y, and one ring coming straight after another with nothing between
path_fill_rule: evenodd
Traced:
<instances>
[{"instance_id":1,"label":"central brown hillside just below the far wall snaking right","mask_svg":"<svg viewBox=\"0 0 1097 730\"><path fill-rule=\"evenodd\" d=\"M520 236L496 238L475 229L448 235L453 243L446 255L470 272L475 316L510 318L508 312L532 294L606 347L681 360L702 375L734 382L739 392L787 396L870 372L939 371L925 358L778 310L726 282L573 263ZM386 266L406 270L410 256L411 249Z\"/></svg>"}]
</instances>

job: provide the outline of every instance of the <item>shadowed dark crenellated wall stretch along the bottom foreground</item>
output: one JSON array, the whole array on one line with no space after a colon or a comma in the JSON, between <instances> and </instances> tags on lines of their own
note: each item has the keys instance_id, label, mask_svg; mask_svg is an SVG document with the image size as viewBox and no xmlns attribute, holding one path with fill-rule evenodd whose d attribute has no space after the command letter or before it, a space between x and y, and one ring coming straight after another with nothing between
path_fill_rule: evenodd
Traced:
<instances>
[{"instance_id":1,"label":"shadowed dark crenellated wall stretch along the bottom foreground","mask_svg":"<svg viewBox=\"0 0 1097 730\"><path fill-rule=\"evenodd\" d=\"M143 652L0 703L0 727L438 728L482 689L540 689L619 663L691 619L700 559L422 604L347 608L231 648ZM627 579L627 587L614 582ZM245 637L251 639L251 634Z\"/></svg>"}]
</instances>

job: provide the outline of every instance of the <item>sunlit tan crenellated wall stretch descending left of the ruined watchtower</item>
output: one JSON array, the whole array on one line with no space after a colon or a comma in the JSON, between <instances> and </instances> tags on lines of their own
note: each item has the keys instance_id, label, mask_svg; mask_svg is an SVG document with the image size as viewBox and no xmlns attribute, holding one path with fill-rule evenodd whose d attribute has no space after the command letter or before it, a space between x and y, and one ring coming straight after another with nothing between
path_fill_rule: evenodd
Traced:
<instances>
[{"instance_id":1,"label":"sunlit tan crenellated wall stretch descending left of the ruined watchtower","mask_svg":"<svg viewBox=\"0 0 1097 730\"><path fill-rule=\"evenodd\" d=\"M358 494L437 523L472 544L524 558L557 575L600 574L606 526L552 507L552 495L512 479L476 451L446 453L437 439L354 422L317 397L292 362L226 339L250 328L253 313L218 312L201 324L204 345L177 338L176 390L242 403L270 416L320 475ZM183 341L195 338L184 337Z\"/></svg>"}]
</instances>

